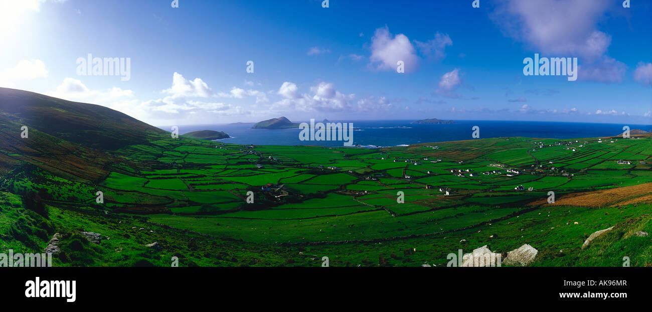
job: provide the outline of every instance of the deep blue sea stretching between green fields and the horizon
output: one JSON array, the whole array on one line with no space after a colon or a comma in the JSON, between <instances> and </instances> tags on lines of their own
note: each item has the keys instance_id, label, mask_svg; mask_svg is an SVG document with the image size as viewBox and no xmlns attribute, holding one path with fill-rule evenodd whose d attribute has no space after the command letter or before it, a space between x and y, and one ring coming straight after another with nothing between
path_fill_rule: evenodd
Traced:
<instances>
[{"instance_id":1,"label":"deep blue sea stretching between green fields and the horizon","mask_svg":"<svg viewBox=\"0 0 652 312\"><path fill-rule=\"evenodd\" d=\"M568 123L552 121L456 120L454 124L419 125L413 120L360 120L331 122L353 123L353 145L364 148L402 146L427 142L471 140L473 126L480 128L480 138L526 136L529 138L593 138L623 133L623 126L649 131L652 125L616 123ZM293 121L302 122L302 121ZM224 131L231 138L219 140L233 144L342 146L342 141L301 141L299 129L251 129L254 123L185 125L179 133L200 130ZM171 127L160 127L170 131Z\"/></svg>"}]
</instances>

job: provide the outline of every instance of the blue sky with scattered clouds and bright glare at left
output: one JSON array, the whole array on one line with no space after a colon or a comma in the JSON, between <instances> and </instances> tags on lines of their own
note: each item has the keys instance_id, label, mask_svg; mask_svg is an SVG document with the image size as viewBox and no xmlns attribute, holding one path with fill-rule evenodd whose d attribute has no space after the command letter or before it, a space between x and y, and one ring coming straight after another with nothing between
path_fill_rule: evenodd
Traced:
<instances>
[{"instance_id":1,"label":"blue sky with scattered clouds and bright glare at left","mask_svg":"<svg viewBox=\"0 0 652 312\"><path fill-rule=\"evenodd\" d=\"M278 116L651 123L651 1L171 2L0 0L0 86L153 125ZM578 80L524 76L535 53L578 57ZM79 75L88 54L130 58L129 80Z\"/></svg>"}]
</instances>

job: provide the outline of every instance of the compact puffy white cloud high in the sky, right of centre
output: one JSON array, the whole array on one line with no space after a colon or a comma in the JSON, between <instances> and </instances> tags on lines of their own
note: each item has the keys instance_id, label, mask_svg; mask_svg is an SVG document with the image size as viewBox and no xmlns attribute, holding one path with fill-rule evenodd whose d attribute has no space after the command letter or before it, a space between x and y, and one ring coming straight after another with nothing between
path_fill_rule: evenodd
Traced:
<instances>
[{"instance_id":1,"label":"compact puffy white cloud high in the sky, right of centre","mask_svg":"<svg viewBox=\"0 0 652 312\"><path fill-rule=\"evenodd\" d=\"M398 61L403 61L406 72L417 68L418 57L406 35L393 36L387 26L376 29L371 43L371 65L377 70L396 70Z\"/></svg>"}]
</instances>

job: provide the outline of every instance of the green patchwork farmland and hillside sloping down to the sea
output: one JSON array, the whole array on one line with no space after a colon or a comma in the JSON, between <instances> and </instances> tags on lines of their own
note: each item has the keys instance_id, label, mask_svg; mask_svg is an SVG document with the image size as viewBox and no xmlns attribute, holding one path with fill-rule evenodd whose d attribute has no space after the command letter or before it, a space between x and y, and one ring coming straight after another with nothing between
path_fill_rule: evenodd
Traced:
<instances>
[{"instance_id":1,"label":"green patchwork farmland and hillside sloping down to the sea","mask_svg":"<svg viewBox=\"0 0 652 312\"><path fill-rule=\"evenodd\" d=\"M40 252L59 233L55 266L169 266L171 257L180 266L320 266L322 257L446 266L458 249L524 243L539 250L533 266L652 264L649 238L630 235L650 230L652 138L254 147L171 138L102 106L0 93L27 106L0 114L0 247ZM38 111L48 113L35 119ZM58 126L42 130L48 114ZM134 142L98 145L130 131ZM29 208L34 194L48 213Z\"/></svg>"}]
</instances>

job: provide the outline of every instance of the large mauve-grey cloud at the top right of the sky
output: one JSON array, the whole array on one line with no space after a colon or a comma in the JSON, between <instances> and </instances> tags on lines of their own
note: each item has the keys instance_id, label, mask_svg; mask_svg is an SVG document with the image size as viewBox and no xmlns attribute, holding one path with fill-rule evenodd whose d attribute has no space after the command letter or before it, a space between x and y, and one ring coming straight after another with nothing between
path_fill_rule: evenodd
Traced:
<instances>
[{"instance_id":1,"label":"large mauve-grey cloud at the top right of the sky","mask_svg":"<svg viewBox=\"0 0 652 312\"><path fill-rule=\"evenodd\" d=\"M583 80L620 82L625 65L606 55L612 37L597 29L609 0L501 0L490 17L505 35L550 57L578 57Z\"/></svg>"}]
</instances>

